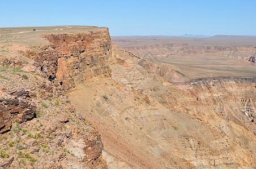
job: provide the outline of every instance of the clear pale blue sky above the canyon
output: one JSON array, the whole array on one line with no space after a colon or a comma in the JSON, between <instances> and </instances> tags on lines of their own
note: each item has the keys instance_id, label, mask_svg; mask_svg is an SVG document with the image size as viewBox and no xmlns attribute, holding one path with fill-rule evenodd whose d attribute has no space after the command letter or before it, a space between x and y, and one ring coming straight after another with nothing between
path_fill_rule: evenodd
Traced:
<instances>
[{"instance_id":1,"label":"clear pale blue sky above the canyon","mask_svg":"<svg viewBox=\"0 0 256 169\"><path fill-rule=\"evenodd\" d=\"M0 0L0 27L89 25L110 35L255 35L256 0Z\"/></svg>"}]
</instances>

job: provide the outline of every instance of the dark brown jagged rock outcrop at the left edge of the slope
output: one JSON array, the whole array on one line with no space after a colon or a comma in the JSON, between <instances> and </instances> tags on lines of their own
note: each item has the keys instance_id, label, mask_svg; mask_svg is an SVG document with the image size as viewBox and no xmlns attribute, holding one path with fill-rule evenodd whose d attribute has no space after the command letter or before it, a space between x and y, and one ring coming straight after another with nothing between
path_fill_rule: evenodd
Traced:
<instances>
[{"instance_id":1,"label":"dark brown jagged rock outcrop at the left edge of the slope","mask_svg":"<svg viewBox=\"0 0 256 169\"><path fill-rule=\"evenodd\" d=\"M29 100L29 92L18 90L0 95L0 133L11 129L11 122L25 122L36 113L36 104Z\"/></svg>"}]
</instances>

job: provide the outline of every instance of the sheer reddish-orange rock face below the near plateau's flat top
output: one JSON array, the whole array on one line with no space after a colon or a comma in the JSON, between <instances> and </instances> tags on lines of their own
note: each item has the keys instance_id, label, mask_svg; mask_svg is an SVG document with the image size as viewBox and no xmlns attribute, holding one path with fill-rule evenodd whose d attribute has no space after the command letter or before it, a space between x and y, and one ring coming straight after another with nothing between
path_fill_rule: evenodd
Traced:
<instances>
[{"instance_id":1,"label":"sheer reddish-orange rock face below the near plateau's flat top","mask_svg":"<svg viewBox=\"0 0 256 169\"><path fill-rule=\"evenodd\" d=\"M67 91L91 77L110 77L107 62L112 46L107 29L44 37L53 45L42 47L35 60L59 90Z\"/></svg>"}]
</instances>

